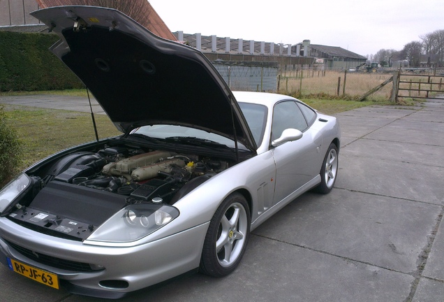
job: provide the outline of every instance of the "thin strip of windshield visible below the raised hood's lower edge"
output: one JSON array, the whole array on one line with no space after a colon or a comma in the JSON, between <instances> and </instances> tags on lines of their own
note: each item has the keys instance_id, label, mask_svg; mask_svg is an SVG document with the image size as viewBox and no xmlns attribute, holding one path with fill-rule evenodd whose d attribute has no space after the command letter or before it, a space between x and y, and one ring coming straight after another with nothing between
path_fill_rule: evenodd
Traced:
<instances>
[{"instance_id":1,"label":"thin strip of windshield visible below the raised hood's lower edge","mask_svg":"<svg viewBox=\"0 0 444 302\"><path fill-rule=\"evenodd\" d=\"M235 142L230 138L225 138L225 136L191 127L170 124L154 124L139 127L138 129L133 130L131 134L141 134L149 138L177 142L179 141L179 138L187 138L186 141L190 141L191 138L198 138L200 140L226 145L229 148L235 148ZM182 140L182 142L184 142L184 140ZM238 148L247 150L241 143L238 143Z\"/></svg>"}]
</instances>

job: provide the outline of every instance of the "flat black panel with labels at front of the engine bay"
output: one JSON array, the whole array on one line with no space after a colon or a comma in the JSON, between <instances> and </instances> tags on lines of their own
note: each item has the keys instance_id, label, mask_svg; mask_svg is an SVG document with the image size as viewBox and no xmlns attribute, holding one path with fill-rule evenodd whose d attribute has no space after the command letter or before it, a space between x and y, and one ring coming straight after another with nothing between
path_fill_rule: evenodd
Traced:
<instances>
[{"instance_id":1,"label":"flat black panel with labels at front of the engine bay","mask_svg":"<svg viewBox=\"0 0 444 302\"><path fill-rule=\"evenodd\" d=\"M43 233L85 239L91 231L126 205L127 196L52 181L38 192L29 207L9 215Z\"/></svg>"}]
</instances>

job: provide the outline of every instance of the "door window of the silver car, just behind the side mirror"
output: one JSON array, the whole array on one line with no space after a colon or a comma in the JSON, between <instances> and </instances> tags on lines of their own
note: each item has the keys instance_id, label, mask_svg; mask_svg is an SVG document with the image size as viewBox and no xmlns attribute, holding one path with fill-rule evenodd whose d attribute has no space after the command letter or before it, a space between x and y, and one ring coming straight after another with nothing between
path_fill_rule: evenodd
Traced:
<instances>
[{"instance_id":1,"label":"door window of the silver car, just behind the side mirror","mask_svg":"<svg viewBox=\"0 0 444 302\"><path fill-rule=\"evenodd\" d=\"M285 129L304 131L307 127L305 117L294 101L283 101L274 106L272 140L279 138Z\"/></svg>"}]
</instances>

